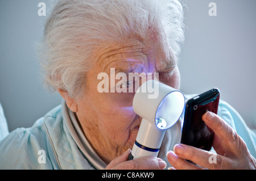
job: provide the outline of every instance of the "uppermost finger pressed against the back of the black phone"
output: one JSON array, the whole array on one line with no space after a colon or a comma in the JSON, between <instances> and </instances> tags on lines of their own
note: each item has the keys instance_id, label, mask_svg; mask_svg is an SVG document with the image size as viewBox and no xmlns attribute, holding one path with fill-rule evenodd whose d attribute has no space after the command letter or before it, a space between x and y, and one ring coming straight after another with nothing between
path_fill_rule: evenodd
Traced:
<instances>
[{"instance_id":1,"label":"uppermost finger pressed against the back of the black phone","mask_svg":"<svg viewBox=\"0 0 256 181\"><path fill-rule=\"evenodd\" d=\"M207 111L202 117L205 124L220 138L222 147L229 153L241 156L244 147L243 140L232 127L220 116Z\"/></svg>"}]
</instances>

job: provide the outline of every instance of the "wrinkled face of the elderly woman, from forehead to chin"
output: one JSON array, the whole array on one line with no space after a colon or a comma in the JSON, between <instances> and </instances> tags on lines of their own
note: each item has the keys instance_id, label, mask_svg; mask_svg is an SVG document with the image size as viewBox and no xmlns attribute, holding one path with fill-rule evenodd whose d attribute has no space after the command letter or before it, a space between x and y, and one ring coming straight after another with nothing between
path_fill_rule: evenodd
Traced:
<instances>
[{"instance_id":1,"label":"wrinkled face of the elderly woman, from forehead to chin","mask_svg":"<svg viewBox=\"0 0 256 181\"><path fill-rule=\"evenodd\" d=\"M84 98L77 104L77 117L85 136L105 162L132 148L142 118L133 111L135 92L100 93L97 75L110 74L111 68L116 70L115 74L158 72L161 82L178 89L179 70L171 53L160 35L146 39L132 36L118 43L102 43L98 48L94 55L96 64L86 76Z\"/></svg>"}]
</instances>

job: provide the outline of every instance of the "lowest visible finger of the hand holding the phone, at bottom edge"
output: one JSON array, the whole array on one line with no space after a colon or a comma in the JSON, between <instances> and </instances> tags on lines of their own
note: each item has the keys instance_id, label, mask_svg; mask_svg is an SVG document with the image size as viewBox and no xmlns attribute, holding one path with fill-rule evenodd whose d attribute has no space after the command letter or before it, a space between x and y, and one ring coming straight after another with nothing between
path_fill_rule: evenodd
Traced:
<instances>
[{"instance_id":1,"label":"lowest visible finger of the hand holding the phone, at bottom edge","mask_svg":"<svg viewBox=\"0 0 256 181\"><path fill-rule=\"evenodd\" d=\"M199 169L201 169L201 167L199 167L193 163L190 163L190 162L186 161L185 159L178 157L174 153L174 151L168 151L166 156L167 156L168 162L170 162L172 167L174 167L175 169L179 169L179 170L199 170ZM173 170L172 167L168 168L168 170Z\"/></svg>"}]
</instances>

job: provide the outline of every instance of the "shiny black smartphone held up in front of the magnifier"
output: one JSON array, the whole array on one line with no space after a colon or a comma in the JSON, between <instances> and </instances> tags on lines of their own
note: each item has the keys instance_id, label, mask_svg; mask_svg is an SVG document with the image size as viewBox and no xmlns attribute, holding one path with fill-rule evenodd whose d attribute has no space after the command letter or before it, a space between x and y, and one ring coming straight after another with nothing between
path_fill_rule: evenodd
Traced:
<instances>
[{"instance_id":1,"label":"shiny black smartphone held up in front of the magnifier","mask_svg":"<svg viewBox=\"0 0 256 181\"><path fill-rule=\"evenodd\" d=\"M191 145L209 151L212 148L214 132L202 120L205 112L217 114L220 90L211 89L189 99L185 106L181 144Z\"/></svg>"}]
</instances>

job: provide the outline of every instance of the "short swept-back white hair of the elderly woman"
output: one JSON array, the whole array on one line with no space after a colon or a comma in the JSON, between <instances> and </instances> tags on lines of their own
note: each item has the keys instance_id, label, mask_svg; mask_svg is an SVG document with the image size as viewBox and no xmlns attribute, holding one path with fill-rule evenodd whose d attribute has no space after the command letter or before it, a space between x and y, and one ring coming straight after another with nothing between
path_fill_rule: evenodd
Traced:
<instances>
[{"instance_id":1,"label":"short swept-back white hair of the elderly woman","mask_svg":"<svg viewBox=\"0 0 256 181\"><path fill-rule=\"evenodd\" d=\"M39 48L44 81L49 90L64 90L77 98L85 88L93 53L102 42L121 41L151 27L164 32L177 59L184 41L183 6L179 0L62 0L44 27Z\"/></svg>"}]
</instances>

